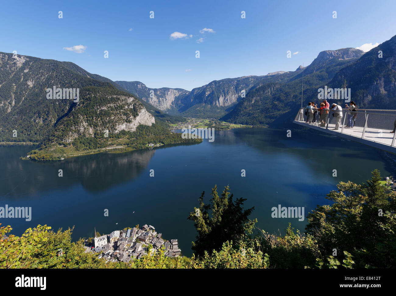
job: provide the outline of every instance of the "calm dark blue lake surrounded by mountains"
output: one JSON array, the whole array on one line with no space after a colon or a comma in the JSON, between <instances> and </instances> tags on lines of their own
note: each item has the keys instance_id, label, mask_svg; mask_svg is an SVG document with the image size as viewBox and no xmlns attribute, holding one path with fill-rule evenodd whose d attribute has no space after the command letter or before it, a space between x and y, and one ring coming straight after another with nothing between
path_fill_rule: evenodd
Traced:
<instances>
[{"instance_id":1,"label":"calm dark blue lake surrounded by mountains","mask_svg":"<svg viewBox=\"0 0 396 296\"><path fill-rule=\"evenodd\" d=\"M73 238L78 239L92 237L94 227L110 233L151 224L164 238L178 239L187 256L196 236L188 214L203 191L206 201L211 198L215 184L219 194L229 184L234 197L247 198L245 208L255 207L250 218L258 219L259 228L284 234L289 222L303 232L307 220L272 218L272 207L305 207L307 215L316 205L329 204L325 196L339 181L362 183L373 169L384 177L394 171L393 156L381 150L298 127L291 138L284 129L233 129L215 131L214 142L200 144L48 163L19 159L32 149L0 147L0 206L32 207L29 222L0 219L13 234L37 224L54 230L75 226Z\"/></svg>"}]
</instances>

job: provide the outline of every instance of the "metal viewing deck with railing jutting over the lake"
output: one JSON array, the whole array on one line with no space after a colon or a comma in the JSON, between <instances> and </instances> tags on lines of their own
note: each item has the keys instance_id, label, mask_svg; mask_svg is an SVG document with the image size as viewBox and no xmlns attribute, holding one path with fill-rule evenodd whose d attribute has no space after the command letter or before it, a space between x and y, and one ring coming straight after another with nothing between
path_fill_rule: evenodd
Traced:
<instances>
[{"instance_id":1,"label":"metal viewing deck with railing jutting over the lake","mask_svg":"<svg viewBox=\"0 0 396 296\"><path fill-rule=\"evenodd\" d=\"M329 114L320 117L318 109L315 116L308 113L309 123L305 111L305 108L300 108L293 122L396 154L396 133L392 133L396 130L396 110L327 110ZM335 129L337 121L340 123L338 130ZM352 123L351 128L349 125Z\"/></svg>"}]
</instances>

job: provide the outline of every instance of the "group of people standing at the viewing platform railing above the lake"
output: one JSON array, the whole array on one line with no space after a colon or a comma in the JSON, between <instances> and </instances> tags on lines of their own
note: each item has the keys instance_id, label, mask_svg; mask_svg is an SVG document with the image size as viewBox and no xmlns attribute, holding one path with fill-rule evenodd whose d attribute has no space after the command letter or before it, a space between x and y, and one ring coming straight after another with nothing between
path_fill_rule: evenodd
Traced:
<instances>
[{"instance_id":1,"label":"group of people standing at the viewing platform railing above the lake","mask_svg":"<svg viewBox=\"0 0 396 296\"><path fill-rule=\"evenodd\" d=\"M349 106L345 104L345 109L343 109L340 105L332 104L331 110L334 112L331 113L332 116L335 118L335 130L338 130L341 125L341 120L343 118L343 110L346 111L347 116L347 124L345 127L353 128L356 120L356 111L357 107L354 101L351 101ZM320 103L320 107L315 104L315 102L309 102L308 106L305 107L305 115L307 115L307 122L306 123L316 123L317 121L320 123L319 126L326 126L327 117L329 116L330 104L327 100L323 100ZM395 121L396 127L396 121Z\"/></svg>"}]
</instances>

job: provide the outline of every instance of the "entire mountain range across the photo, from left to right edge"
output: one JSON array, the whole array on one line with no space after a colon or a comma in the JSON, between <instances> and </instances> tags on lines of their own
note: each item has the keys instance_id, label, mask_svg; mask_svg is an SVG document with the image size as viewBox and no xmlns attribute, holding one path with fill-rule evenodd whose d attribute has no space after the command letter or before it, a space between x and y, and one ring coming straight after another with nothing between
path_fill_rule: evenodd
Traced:
<instances>
[{"instance_id":1,"label":"entire mountain range across the photo, from left to right edge","mask_svg":"<svg viewBox=\"0 0 396 296\"><path fill-rule=\"evenodd\" d=\"M178 142L168 123L185 121L182 116L280 127L301 99L304 106L318 101L324 85L350 88L360 108L395 108L395 59L396 36L367 53L325 50L295 71L215 80L187 91L113 82L71 62L0 52L0 142L39 142L47 150L54 145L80 151L120 143L141 148L147 139ZM50 100L46 94L53 87L78 88L82 100ZM108 139L101 136L106 132Z\"/></svg>"}]
</instances>

